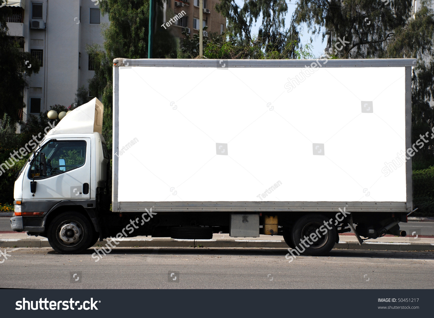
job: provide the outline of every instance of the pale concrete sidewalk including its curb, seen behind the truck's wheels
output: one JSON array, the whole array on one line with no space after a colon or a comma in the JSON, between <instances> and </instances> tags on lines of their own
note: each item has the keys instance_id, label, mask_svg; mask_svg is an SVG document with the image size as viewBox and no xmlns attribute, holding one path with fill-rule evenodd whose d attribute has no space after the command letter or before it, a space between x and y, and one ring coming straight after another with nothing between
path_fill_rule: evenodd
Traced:
<instances>
[{"instance_id":1,"label":"pale concrete sidewalk including its curb, seen behind the truck's wheels","mask_svg":"<svg viewBox=\"0 0 434 318\"><path fill-rule=\"evenodd\" d=\"M97 246L105 246L107 240L98 242ZM260 237L230 237L229 234L214 234L212 240L181 240L170 237L138 236L126 238L118 242L118 247L251 247L251 248L284 248L287 249L282 236L261 235ZM112 243L115 245L115 243ZM21 233L0 234L0 247L50 247L45 237L28 236ZM335 249L345 250L393 250L393 251L434 251L434 238L427 237L381 237L366 240L359 245L354 235L340 235Z\"/></svg>"}]
</instances>

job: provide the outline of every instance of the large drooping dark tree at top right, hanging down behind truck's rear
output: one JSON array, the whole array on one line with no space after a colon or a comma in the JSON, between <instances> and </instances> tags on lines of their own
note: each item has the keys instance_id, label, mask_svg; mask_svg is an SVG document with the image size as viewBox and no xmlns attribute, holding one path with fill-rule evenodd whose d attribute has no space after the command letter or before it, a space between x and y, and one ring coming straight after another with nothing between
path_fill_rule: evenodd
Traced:
<instances>
[{"instance_id":1,"label":"large drooping dark tree at top right, hanging down behind truck's rear","mask_svg":"<svg viewBox=\"0 0 434 318\"><path fill-rule=\"evenodd\" d=\"M434 13L427 0L420 5L412 15L410 0L300 0L293 14L297 25L306 23L323 39L329 35L332 57L418 58L412 76L413 143L434 125ZM417 169L434 165L434 142L412 161Z\"/></svg>"}]
</instances>

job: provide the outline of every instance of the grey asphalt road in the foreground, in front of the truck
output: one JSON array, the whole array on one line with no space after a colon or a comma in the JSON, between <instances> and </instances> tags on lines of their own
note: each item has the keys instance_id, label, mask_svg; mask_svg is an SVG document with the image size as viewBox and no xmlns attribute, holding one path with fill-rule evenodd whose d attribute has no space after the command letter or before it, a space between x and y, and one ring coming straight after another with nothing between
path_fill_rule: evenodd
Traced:
<instances>
[{"instance_id":1,"label":"grey asphalt road in the foreground, in front of the truck","mask_svg":"<svg viewBox=\"0 0 434 318\"><path fill-rule=\"evenodd\" d=\"M113 250L98 262L90 250L80 255L60 255L51 248L8 249L8 253L11 256L0 264L0 288L434 287L434 252L333 250L329 256L298 256L292 263L285 260L288 252L284 249L132 247ZM81 283L71 283L73 274Z\"/></svg>"}]
</instances>

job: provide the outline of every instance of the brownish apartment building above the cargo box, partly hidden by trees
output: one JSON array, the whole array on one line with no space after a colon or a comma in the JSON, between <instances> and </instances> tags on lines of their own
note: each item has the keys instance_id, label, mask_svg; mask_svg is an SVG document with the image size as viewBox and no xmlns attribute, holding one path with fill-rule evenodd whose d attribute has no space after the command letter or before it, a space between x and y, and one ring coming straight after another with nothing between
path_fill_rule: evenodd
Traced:
<instances>
[{"instance_id":1,"label":"brownish apartment building above the cargo box, partly hidden by trees","mask_svg":"<svg viewBox=\"0 0 434 318\"><path fill-rule=\"evenodd\" d=\"M204 32L204 36L208 36L210 33L222 34L226 31L226 18L214 9L216 3L219 3L219 1L203 0L202 26L208 27ZM193 34L198 34L200 27L199 0L168 0L164 4L164 23L170 21L174 16L179 16L179 13L181 13L182 17L177 18L177 21L168 27L169 32L179 41L185 38L182 34L184 28L187 28L191 38Z\"/></svg>"}]
</instances>

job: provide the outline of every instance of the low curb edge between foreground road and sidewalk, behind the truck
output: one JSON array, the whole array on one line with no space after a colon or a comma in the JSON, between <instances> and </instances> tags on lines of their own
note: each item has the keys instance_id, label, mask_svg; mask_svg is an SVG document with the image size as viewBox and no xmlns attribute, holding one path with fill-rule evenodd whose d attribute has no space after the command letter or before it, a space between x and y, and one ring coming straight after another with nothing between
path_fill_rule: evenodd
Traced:
<instances>
[{"instance_id":1,"label":"low curb edge between foreground road and sidewalk, behind the truck","mask_svg":"<svg viewBox=\"0 0 434 318\"><path fill-rule=\"evenodd\" d=\"M98 242L105 246L107 240ZM124 239L117 247L250 247L250 248L284 248L283 240L158 240L158 239ZM47 239L2 239L1 247L50 247ZM96 245L94 245L96 247ZM365 242L359 245L356 242L341 241L335 244L334 249L340 250L388 250L388 251L434 251L434 243L387 243Z\"/></svg>"}]
</instances>

